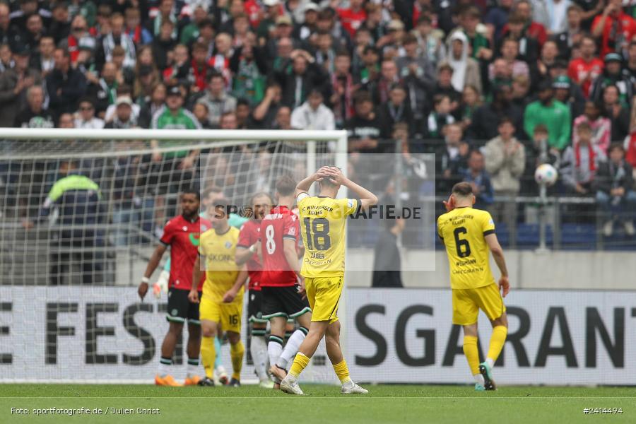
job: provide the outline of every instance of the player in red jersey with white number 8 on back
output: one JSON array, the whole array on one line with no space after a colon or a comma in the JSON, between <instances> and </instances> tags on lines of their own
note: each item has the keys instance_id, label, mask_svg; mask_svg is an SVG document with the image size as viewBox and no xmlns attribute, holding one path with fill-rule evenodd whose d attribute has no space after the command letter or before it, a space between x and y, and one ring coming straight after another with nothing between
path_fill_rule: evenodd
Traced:
<instances>
[{"instance_id":1,"label":"player in red jersey with white number 8 on back","mask_svg":"<svg viewBox=\"0 0 636 424\"><path fill-rule=\"evenodd\" d=\"M300 225L298 216L290 209L294 204L295 188L296 183L290 177L278 179L278 206L272 208L261 222L263 318L269 319L270 323L271 335L267 345L271 364L269 372L276 378L277 384L287 375L287 365L305 340L312 319L302 281L300 291L296 288L300 276ZM300 327L290 336L283 350L288 318L296 319Z\"/></svg>"}]
</instances>

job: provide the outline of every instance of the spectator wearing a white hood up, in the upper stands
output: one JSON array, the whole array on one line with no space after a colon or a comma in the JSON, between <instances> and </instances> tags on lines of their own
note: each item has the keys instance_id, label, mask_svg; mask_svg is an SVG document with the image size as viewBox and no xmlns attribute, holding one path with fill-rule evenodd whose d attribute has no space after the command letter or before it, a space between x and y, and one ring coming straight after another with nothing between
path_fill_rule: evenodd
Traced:
<instances>
[{"instance_id":1,"label":"spectator wearing a white hood up, in the upper stands","mask_svg":"<svg viewBox=\"0 0 636 424\"><path fill-rule=\"evenodd\" d=\"M469 40L461 31L455 31L448 40L447 62L453 69L451 83L455 90L461 92L464 86L477 88L481 93L481 71L479 63L469 57Z\"/></svg>"}]
</instances>

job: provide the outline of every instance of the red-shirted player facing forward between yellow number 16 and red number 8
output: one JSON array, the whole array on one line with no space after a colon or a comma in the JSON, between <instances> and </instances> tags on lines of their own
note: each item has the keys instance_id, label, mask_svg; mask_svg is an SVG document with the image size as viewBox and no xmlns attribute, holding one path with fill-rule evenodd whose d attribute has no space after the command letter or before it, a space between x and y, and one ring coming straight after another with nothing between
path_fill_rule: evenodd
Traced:
<instances>
[{"instance_id":1,"label":"red-shirted player facing forward between yellow number 16 and red number 8","mask_svg":"<svg viewBox=\"0 0 636 424\"><path fill-rule=\"evenodd\" d=\"M265 332L267 320L262 317L261 309L261 260L257 254L259 245L259 235L261 230L261 218L269 212L273 201L269 194L257 193L252 196L249 202L252 206L252 216L245 222L239 234L236 249L236 263L242 265L247 263L247 273L249 274L249 297L247 305L247 316L252 337L249 339L249 351L254 360L254 369L260 380L261 387L270 388L272 382L267 375L267 346L265 343Z\"/></svg>"}]
</instances>

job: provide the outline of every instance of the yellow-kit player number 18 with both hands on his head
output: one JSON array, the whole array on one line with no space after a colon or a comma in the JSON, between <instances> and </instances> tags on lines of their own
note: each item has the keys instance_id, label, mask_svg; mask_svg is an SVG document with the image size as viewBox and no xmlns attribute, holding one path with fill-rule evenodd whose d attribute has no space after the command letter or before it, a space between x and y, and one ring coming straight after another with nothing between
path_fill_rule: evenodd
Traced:
<instances>
[{"instance_id":1,"label":"yellow-kit player number 18 with both hands on his head","mask_svg":"<svg viewBox=\"0 0 636 424\"><path fill-rule=\"evenodd\" d=\"M307 191L318 182L319 195ZM336 199L343 185L358 199ZM305 277L307 300L312 308L312 322L281 390L289 394L304 394L298 386L298 376L307 367L318 343L325 337L327 355L342 383L342 394L366 394L367 390L349 377L347 363L340 348L338 302L343 289L345 227L347 216L377 204L377 197L345 177L337 167L322 167L296 186L296 201L300 215L300 233L305 245L300 274ZM301 285L302 287L302 285Z\"/></svg>"}]
</instances>

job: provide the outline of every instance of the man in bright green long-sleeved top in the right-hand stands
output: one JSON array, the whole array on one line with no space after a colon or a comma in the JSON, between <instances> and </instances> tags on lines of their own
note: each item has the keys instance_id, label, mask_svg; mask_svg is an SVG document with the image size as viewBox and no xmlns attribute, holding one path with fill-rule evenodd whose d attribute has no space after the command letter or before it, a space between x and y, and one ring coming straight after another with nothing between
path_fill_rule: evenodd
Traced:
<instances>
[{"instance_id":1,"label":"man in bright green long-sleeved top in the right-hand stands","mask_svg":"<svg viewBox=\"0 0 636 424\"><path fill-rule=\"evenodd\" d=\"M558 100L554 100L554 91L550 81L539 86L538 100L531 102L524 112L524 130L532 136L534 127L542 123L548 127L548 143L559 150L570 143L570 110Z\"/></svg>"}]
</instances>

